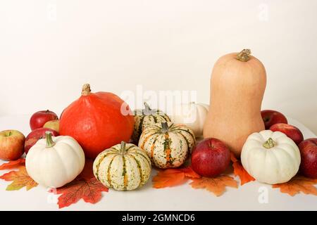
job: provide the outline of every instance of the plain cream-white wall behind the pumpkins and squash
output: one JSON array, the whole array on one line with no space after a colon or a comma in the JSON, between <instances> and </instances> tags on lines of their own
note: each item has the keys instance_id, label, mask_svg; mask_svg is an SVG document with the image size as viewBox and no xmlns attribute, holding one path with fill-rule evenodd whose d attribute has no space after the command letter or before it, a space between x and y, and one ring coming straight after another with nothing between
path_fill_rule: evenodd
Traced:
<instances>
[{"instance_id":1,"label":"plain cream-white wall behind the pumpkins and squash","mask_svg":"<svg viewBox=\"0 0 317 225\"><path fill-rule=\"evenodd\" d=\"M266 66L263 108L317 133L317 1L0 1L0 116L61 113L93 91L197 90L213 63L250 48ZM8 127L10 129L11 127Z\"/></svg>"}]
</instances>

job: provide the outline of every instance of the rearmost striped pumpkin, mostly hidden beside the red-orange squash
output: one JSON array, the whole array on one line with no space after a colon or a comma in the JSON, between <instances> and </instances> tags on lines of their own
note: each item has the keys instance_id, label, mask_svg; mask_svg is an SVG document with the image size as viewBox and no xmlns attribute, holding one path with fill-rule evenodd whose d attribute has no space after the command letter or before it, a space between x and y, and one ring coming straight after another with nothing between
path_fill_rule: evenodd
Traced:
<instances>
[{"instance_id":1,"label":"rearmost striped pumpkin, mostly hidden beside the red-orange squash","mask_svg":"<svg viewBox=\"0 0 317 225\"><path fill-rule=\"evenodd\" d=\"M132 141L134 143L139 142L139 136L145 127L149 127L156 123L170 122L168 115L161 110L151 110L147 103L144 103L145 108L143 110L135 110L133 115L135 116L135 127L132 134Z\"/></svg>"}]
</instances>

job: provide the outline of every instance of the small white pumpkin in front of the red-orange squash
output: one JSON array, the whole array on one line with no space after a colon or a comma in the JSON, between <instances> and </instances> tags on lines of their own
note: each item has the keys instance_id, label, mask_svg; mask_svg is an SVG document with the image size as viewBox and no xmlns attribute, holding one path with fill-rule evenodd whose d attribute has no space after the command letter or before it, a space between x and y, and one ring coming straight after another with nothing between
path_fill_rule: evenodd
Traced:
<instances>
[{"instance_id":1,"label":"small white pumpkin in front of the red-orange squash","mask_svg":"<svg viewBox=\"0 0 317 225\"><path fill-rule=\"evenodd\" d=\"M85 153L70 136L51 136L46 131L25 159L27 174L38 184L59 188L73 181L85 167Z\"/></svg>"}]
</instances>

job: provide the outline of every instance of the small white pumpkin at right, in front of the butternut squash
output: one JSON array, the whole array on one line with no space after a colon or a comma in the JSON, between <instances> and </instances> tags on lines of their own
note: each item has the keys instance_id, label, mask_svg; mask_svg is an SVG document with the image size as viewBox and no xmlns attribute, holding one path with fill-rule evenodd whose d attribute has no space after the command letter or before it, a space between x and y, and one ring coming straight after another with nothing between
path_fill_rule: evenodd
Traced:
<instances>
[{"instance_id":1,"label":"small white pumpkin at right, in front of the butternut squash","mask_svg":"<svg viewBox=\"0 0 317 225\"><path fill-rule=\"evenodd\" d=\"M282 184L290 181L299 170L299 148L281 132L271 130L251 134L241 153L244 169L257 181Z\"/></svg>"}]
</instances>

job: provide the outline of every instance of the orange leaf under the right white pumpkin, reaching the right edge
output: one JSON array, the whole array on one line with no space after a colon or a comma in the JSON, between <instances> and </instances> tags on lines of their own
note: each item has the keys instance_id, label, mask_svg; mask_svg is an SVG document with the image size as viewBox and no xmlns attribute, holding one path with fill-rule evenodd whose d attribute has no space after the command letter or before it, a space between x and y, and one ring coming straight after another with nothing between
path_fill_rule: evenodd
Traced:
<instances>
[{"instance_id":1,"label":"orange leaf under the right white pumpkin, reaching the right edge","mask_svg":"<svg viewBox=\"0 0 317 225\"><path fill-rule=\"evenodd\" d=\"M317 195L317 179L310 179L304 176L294 176L290 181L284 184L273 184L273 188L280 188L280 192L294 196L299 193L306 195Z\"/></svg>"}]
</instances>

